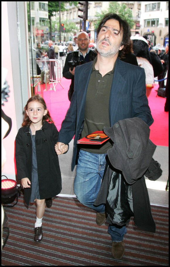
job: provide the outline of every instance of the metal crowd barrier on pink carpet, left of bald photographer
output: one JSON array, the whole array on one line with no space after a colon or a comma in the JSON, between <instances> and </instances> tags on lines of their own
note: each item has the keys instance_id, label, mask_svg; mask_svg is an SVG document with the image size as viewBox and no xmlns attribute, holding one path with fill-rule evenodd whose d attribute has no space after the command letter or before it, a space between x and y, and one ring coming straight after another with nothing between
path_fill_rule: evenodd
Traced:
<instances>
[{"instance_id":1,"label":"metal crowd barrier on pink carpet, left of bald photographer","mask_svg":"<svg viewBox=\"0 0 170 267\"><path fill-rule=\"evenodd\" d=\"M41 69L41 72L45 72L44 80L42 83L46 83L46 72L50 71L50 83L53 84L53 89L55 90L56 85L59 83L61 86L61 67L60 60L58 59L40 59L37 60L37 64ZM43 79L42 77L42 79ZM62 86L64 89L64 87Z\"/></svg>"}]
</instances>

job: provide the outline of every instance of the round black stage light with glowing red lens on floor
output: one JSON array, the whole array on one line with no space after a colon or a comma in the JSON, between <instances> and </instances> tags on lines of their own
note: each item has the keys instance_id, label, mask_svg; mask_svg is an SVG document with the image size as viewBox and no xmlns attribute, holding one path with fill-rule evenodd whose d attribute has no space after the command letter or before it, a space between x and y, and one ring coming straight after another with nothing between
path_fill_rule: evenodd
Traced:
<instances>
[{"instance_id":1,"label":"round black stage light with glowing red lens on floor","mask_svg":"<svg viewBox=\"0 0 170 267\"><path fill-rule=\"evenodd\" d=\"M18 203L18 196L21 195L20 190L21 190L21 185L17 185L17 182L15 180L8 178L1 179L1 204L4 204L3 207L15 206ZM15 199L16 203L14 203L13 205L6 205L12 203Z\"/></svg>"}]
</instances>

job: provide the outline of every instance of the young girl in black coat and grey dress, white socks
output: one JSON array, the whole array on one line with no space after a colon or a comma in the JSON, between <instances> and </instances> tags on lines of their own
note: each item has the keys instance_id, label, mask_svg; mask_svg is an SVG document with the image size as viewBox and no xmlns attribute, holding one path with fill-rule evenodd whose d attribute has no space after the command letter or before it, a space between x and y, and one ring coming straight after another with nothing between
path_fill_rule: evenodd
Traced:
<instances>
[{"instance_id":1,"label":"young girl in black coat and grey dress, white socks","mask_svg":"<svg viewBox=\"0 0 170 267\"><path fill-rule=\"evenodd\" d=\"M23 127L16 136L17 178L24 188L27 205L36 202L34 241L40 242L43 239L45 199L51 199L62 189L59 160L55 152L58 131L40 95L30 97L24 109Z\"/></svg>"}]
</instances>

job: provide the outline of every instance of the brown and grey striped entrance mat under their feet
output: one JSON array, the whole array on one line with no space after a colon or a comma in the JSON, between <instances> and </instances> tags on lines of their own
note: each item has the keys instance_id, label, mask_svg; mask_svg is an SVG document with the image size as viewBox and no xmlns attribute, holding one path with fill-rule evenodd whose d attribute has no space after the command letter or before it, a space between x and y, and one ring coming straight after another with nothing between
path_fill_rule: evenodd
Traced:
<instances>
[{"instance_id":1,"label":"brown and grey striped entrance mat under their feet","mask_svg":"<svg viewBox=\"0 0 170 267\"><path fill-rule=\"evenodd\" d=\"M151 206L156 233L138 230L133 221L124 237L125 254L115 260L108 225L96 224L96 213L76 198L56 196L43 217L43 240L35 243L35 204L29 208L23 194L12 208L4 207L9 238L1 255L2 266L169 266L168 207ZM3 239L6 232L3 231Z\"/></svg>"}]
</instances>

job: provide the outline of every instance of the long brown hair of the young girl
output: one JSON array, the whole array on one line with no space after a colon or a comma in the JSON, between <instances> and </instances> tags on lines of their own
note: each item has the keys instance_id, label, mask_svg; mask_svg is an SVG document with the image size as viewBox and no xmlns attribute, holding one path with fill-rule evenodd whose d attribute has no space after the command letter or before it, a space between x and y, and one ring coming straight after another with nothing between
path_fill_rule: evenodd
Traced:
<instances>
[{"instance_id":1,"label":"long brown hair of the young girl","mask_svg":"<svg viewBox=\"0 0 170 267\"><path fill-rule=\"evenodd\" d=\"M28 110L28 104L32 101L37 101L37 102L40 102L42 105L43 105L43 108L44 109L47 109L47 106L45 104L45 101L43 99L42 96L40 95L33 95L32 97L30 97L24 107L24 110L25 110L25 114L24 114L24 120L23 120L23 123L22 123L22 126L29 126L31 124L31 121L26 113L26 110ZM42 120L42 123L45 122L45 121L48 121L50 123L53 123L54 124L54 121L53 119L51 118L50 116L50 113L49 111L47 111L47 114L45 116L43 116L43 120Z\"/></svg>"}]
</instances>

